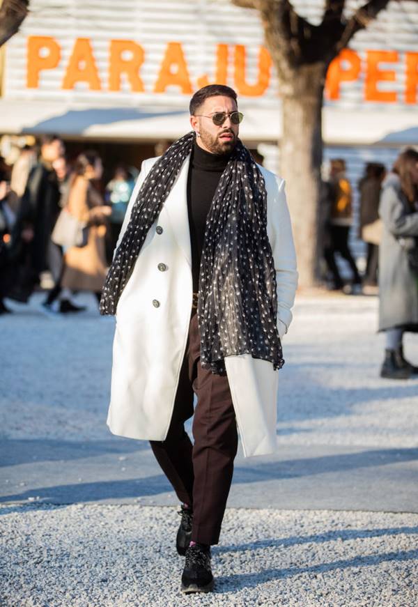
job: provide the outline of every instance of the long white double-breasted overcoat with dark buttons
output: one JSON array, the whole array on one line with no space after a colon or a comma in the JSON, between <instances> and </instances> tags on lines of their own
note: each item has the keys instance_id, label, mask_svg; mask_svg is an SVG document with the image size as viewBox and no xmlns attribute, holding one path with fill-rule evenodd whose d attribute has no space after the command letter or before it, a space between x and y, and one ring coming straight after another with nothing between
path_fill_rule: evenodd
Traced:
<instances>
[{"instance_id":1,"label":"long white double-breasted overcoat with dark buttons","mask_svg":"<svg viewBox=\"0 0 418 607\"><path fill-rule=\"evenodd\" d=\"M142 163L118 244L155 160ZM291 323L297 285L295 248L284 180L259 168L268 194L268 238L277 270L277 323L283 337ZM118 436L164 440L169 429L192 309L188 169L189 157L148 231L118 302L107 417L109 429ZM164 271L159 264L164 264ZM225 365L245 456L274 452L279 372L249 354L229 356Z\"/></svg>"}]
</instances>

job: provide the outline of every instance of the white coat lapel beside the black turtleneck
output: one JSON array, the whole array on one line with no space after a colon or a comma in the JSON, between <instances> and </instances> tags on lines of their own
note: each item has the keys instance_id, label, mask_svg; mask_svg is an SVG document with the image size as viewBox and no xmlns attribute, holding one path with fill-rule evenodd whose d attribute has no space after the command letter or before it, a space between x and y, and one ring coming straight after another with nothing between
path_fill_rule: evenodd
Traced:
<instances>
[{"instance_id":1,"label":"white coat lapel beside the black turtleneck","mask_svg":"<svg viewBox=\"0 0 418 607\"><path fill-rule=\"evenodd\" d=\"M187 213L187 174L189 172L190 155L187 156L180 169L176 183L173 185L164 208L169 217L171 229L182 249L187 263L192 267L192 251L190 247L189 215Z\"/></svg>"}]
</instances>

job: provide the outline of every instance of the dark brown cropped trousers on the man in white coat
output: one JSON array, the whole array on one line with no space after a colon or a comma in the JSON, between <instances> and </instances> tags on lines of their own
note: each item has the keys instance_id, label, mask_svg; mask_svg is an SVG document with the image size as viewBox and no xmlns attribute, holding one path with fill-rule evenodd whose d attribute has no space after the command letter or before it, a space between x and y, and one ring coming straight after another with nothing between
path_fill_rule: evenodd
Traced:
<instances>
[{"instance_id":1,"label":"dark brown cropped trousers on the man in white coat","mask_svg":"<svg viewBox=\"0 0 418 607\"><path fill-rule=\"evenodd\" d=\"M184 428L193 413L194 445ZM197 314L193 314L189 325L167 438L153 440L150 445L180 502L193 508L192 541L217 544L231 487L238 433L226 374L215 375L201 367Z\"/></svg>"}]
</instances>

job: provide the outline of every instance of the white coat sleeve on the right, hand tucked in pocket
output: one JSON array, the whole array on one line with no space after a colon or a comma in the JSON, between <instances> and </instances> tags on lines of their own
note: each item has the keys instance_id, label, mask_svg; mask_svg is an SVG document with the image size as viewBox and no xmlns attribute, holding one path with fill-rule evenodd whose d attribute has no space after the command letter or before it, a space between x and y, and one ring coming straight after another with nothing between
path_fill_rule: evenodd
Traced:
<instances>
[{"instance_id":1,"label":"white coat sleeve on the right, hand tucked in pocket","mask_svg":"<svg viewBox=\"0 0 418 607\"><path fill-rule=\"evenodd\" d=\"M272 188L274 192L271 192ZM271 188L268 188L268 235L276 269L277 328L280 337L283 337L292 321L297 269L291 217L284 192L284 180L280 178L274 178Z\"/></svg>"}]
</instances>

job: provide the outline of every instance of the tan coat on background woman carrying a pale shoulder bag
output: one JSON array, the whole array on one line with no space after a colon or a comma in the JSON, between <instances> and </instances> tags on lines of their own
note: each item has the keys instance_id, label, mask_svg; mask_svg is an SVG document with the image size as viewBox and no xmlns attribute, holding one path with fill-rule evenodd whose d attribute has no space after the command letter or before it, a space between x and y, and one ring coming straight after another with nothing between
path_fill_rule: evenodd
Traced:
<instances>
[{"instance_id":1,"label":"tan coat on background woman carrying a pale shoulder bag","mask_svg":"<svg viewBox=\"0 0 418 607\"><path fill-rule=\"evenodd\" d=\"M74 291L102 290L107 272L104 237L106 226L104 217L95 213L95 207L102 205L100 195L93 190L83 177L76 178L70 189L68 211L88 224L85 247L71 247L65 252L65 267L61 285Z\"/></svg>"}]
</instances>

